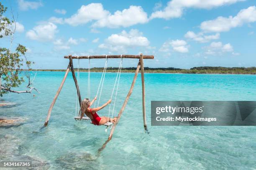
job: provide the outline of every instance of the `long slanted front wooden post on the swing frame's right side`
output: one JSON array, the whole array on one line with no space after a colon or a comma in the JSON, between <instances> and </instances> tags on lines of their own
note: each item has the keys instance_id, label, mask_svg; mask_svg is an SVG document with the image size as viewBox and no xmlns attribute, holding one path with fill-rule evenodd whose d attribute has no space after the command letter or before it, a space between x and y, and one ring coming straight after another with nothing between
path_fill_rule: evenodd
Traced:
<instances>
[{"instance_id":1,"label":"long slanted front wooden post on the swing frame's right side","mask_svg":"<svg viewBox=\"0 0 256 170\"><path fill-rule=\"evenodd\" d=\"M130 88L130 90L129 90L129 92L128 92L126 98L125 98L125 101L123 102L123 106L122 106L122 108L120 109L120 111L119 111L119 113L118 113L118 117L117 117L115 123L112 125L112 128L111 128L111 131L110 131L110 135L109 135L109 137L108 137L108 140L106 140L106 142L105 142L105 143L102 145L102 147L98 150L98 153L100 153L100 151L102 151L102 150L106 147L107 143L112 139L112 136L113 136L115 127L116 127L116 125L118 124L118 122L119 122L119 120L120 120L120 117L121 117L121 115L122 115L122 113L123 113L123 110L125 109L125 106L127 105L127 102L128 102L128 100L129 100L129 98L130 98L132 92L133 92L133 87L134 87L134 85L135 85L135 82L136 82L136 79L137 79L137 76L138 76L138 72L139 72L139 70L140 70L140 65L141 65L141 62L139 61L139 62L138 62L137 69L136 69L136 72L135 72L135 75L134 75L134 77L133 77L133 82L132 82L132 84L131 84L131 88Z\"/></svg>"}]
</instances>

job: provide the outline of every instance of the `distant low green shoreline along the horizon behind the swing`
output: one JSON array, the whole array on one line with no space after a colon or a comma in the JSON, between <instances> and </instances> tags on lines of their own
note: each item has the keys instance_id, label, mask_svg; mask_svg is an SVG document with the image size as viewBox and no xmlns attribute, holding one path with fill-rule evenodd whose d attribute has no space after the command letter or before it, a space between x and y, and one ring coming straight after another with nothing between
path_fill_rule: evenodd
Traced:
<instances>
[{"instance_id":1,"label":"distant low green shoreline along the horizon behind the swing","mask_svg":"<svg viewBox=\"0 0 256 170\"><path fill-rule=\"evenodd\" d=\"M74 68L77 71L77 68ZM90 68L90 72L102 72L103 67ZM135 72L136 67L122 68L122 72ZM33 71L36 71L33 69ZM62 69L39 69L37 71L59 72ZM80 72L88 72L87 68L80 68ZM118 72L118 67L108 67L107 72ZM174 67L150 68L144 67L146 73L176 73L176 74L243 74L256 75L256 67L193 67L190 69L180 69Z\"/></svg>"}]
</instances>

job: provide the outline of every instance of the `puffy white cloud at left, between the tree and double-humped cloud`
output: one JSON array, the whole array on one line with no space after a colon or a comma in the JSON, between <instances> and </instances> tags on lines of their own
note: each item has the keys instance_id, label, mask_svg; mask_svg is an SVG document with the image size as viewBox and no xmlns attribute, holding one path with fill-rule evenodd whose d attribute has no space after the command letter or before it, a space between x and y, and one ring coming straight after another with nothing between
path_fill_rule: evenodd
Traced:
<instances>
[{"instance_id":1,"label":"puffy white cloud at left, between the tree and double-humped cloud","mask_svg":"<svg viewBox=\"0 0 256 170\"><path fill-rule=\"evenodd\" d=\"M57 26L53 23L41 24L26 32L26 37L31 40L51 41L57 32Z\"/></svg>"}]
</instances>

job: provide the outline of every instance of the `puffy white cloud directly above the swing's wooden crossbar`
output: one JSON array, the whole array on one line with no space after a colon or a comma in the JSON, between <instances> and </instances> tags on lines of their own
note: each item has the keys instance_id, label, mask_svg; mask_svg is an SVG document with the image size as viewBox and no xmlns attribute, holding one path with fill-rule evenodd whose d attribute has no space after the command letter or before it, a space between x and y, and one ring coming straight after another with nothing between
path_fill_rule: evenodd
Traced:
<instances>
[{"instance_id":1,"label":"puffy white cloud directly above the swing's wooden crossbar","mask_svg":"<svg viewBox=\"0 0 256 170\"><path fill-rule=\"evenodd\" d=\"M149 40L143 36L142 32L131 29L129 32L123 30L119 34L112 34L99 48L110 49L112 51L124 51L128 47L148 47Z\"/></svg>"}]
</instances>

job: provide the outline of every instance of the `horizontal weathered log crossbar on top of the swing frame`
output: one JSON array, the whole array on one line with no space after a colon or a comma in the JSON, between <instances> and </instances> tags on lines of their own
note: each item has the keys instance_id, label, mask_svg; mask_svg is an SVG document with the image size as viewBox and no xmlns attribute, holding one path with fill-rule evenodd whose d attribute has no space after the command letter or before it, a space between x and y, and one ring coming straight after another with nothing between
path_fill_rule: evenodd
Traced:
<instances>
[{"instance_id":1,"label":"horizontal weathered log crossbar on top of the swing frame","mask_svg":"<svg viewBox=\"0 0 256 170\"><path fill-rule=\"evenodd\" d=\"M64 56L64 58L69 58L69 56ZM88 56L72 56L72 59L99 59L106 58L106 55L90 55ZM121 55L107 55L107 58L121 58ZM140 59L140 55L122 55L122 58L133 58ZM143 55L143 59L154 59L154 55Z\"/></svg>"}]
</instances>

